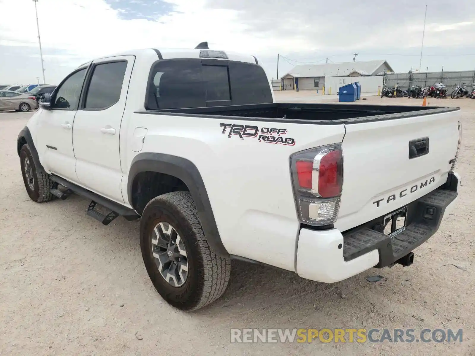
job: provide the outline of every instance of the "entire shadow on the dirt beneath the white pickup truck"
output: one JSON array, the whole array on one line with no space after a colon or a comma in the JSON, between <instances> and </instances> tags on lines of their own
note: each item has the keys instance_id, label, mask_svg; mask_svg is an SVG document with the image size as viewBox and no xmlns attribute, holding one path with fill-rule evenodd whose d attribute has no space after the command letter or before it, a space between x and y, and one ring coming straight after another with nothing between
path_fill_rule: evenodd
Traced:
<instances>
[{"instance_id":1,"label":"entire shadow on the dirt beneath the white pickup truck","mask_svg":"<svg viewBox=\"0 0 475 356\"><path fill-rule=\"evenodd\" d=\"M110 250L127 252L126 258L132 259L133 265L140 266L138 268L143 274L143 283L149 285L148 276L144 268L142 269L140 245L136 238L139 234L139 221L128 222L118 218L109 226L97 224L95 220L85 215L87 201L76 195L72 195L66 202L55 200L50 203L51 206L57 205L58 209L64 207L64 204L68 209L74 210L75 215L83 216L77 221L78 227L84 228L86 223L88 230L94 230L95 238L105 240L114 236L107 242L114 245ZM401 273L402 267L396 266L391 270L372 269L337 283L320 283L303 279L294 272L267 265L233 260L231 266L231 277L223 296L209 306L193 312L192 315L204 319L219 316L229 323L233 320L242 321L246 319L246 315L254 314L259 315L261 319L272 319L276 315L285 316L288 320L300 318L301 322L307 320L309 316L320 314L324 318L323 323L329 316L323 317L322 313L330 313L332 318L336 314L344 315L345 318L352 318L352 315L357 315L356 313L368 315L375 310L375 305L380 304L380 300L394 297L393 290L400 288L401 283L404 284L406 274ZM387 278L376 283L370 283L364 278L377 274ZM417 291L415 294L415 298L418 298ZM156 298L161 298L158 293ZM392 310L387 309L386 312L392 313Z\"/></svg>"}]
</instances>

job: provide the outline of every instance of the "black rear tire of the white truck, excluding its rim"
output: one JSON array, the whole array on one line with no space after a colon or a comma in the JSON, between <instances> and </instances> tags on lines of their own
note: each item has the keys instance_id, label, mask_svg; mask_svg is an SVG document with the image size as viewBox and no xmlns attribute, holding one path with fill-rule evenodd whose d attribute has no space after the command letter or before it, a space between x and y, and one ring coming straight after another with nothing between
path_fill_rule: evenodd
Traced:
<instances>
[{"instance_id":1,"label":"black rear tire of the white truck, excluding its rim","mask_svg":"<svg viewBox=\"0 0 475 356\"><path fill-rule=\"evenodd\" d=\"M152 237L159 222L172 225L185 244L188 275L180 287L172 286L162 277L153 257ZM231 262L211 251L190 192L163 194L145 206L140 222L140 247L153 286L175 308L202 308L217 300L228 286Z\"/></svg>"}]
</instances>

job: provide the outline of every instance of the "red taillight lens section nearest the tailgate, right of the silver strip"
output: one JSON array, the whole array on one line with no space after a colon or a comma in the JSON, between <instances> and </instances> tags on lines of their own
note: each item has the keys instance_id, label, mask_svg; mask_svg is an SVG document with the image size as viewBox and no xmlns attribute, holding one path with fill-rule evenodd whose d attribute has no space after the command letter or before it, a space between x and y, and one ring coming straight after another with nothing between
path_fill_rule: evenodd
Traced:
<instances>
[{"instance_id":1,"label":"red taillight lens section nearest the tailgate, right of the silver strip","mask_svg":"<svg viewBox=\"0 0 475 356\"><path fill-rule=\"evenodd\" d=\"M318 194L323 198L337 197L342 193L342 155L332 150L320 160Z\"/></svg>"}]
</instances>

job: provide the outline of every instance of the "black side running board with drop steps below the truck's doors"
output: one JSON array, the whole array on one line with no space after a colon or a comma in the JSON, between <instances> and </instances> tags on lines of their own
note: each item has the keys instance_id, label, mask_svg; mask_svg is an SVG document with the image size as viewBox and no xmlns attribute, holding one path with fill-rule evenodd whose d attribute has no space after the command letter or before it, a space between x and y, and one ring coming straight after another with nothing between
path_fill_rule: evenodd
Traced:
<instances>
[{"instance_id":1,"label":"black side running board with drop steps below the truck's doors","mask_svg":"<svg viewBox=\"0 0 475 356\"><path fill-rule=\"evenodd\" d=\"M51 193L53 195L63 200L66 199L67 195L69 195L69 192L74 192L82 197L90 199L91 203L89 204L89 208L87 209L87 215L92 216L96 220L101 221L104 225L108 225L112 220L114 220L119 215L122 215L126 220L129 220L129 221L137 220L140 217L140 215L138 215L135 212L135 210L128 208L126 206L120 205L119 203L116 203L107 198L104 198L94 192L91 192L88 189L79 187L78 185L71 183L67 181L66 179L63 179L58 176L52 176L51 180L67 188L65 192L66 193L65 196L58 194L59 190L57 188L51 189ZM95 207L97 204L104 206L105 208L111 210L111 212L106 215L99 213L97 210L95 210Z\"/></svg>"}]
</instances>

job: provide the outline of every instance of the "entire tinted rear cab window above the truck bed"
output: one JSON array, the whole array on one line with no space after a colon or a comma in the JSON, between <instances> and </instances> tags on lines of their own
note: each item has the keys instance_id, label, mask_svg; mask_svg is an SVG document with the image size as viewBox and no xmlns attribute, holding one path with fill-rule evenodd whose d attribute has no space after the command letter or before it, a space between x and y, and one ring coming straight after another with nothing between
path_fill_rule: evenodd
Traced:
<instances>
[{"instance_id":1,"label":"entire tinted rear cab window above the truck bed","mask_svg":"<svg viewBox=\"0 0 475 356\"><path fill-rule=\"evenodd\" d=\"M180 109L272 103L261 66L213 59L163 59L151 69L145 108Z\"/></svg>"}]
</instances>

